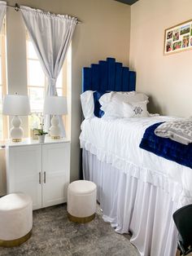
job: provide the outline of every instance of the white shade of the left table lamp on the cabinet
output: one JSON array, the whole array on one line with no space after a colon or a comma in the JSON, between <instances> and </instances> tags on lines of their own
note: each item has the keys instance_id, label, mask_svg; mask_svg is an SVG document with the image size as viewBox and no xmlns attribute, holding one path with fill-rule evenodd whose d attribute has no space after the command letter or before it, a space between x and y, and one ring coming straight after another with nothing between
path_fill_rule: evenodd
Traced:
<instances>
[{"instance_id":1,"label":"white shade of the left table lamp on the cabinet","mask_svg":"<svg viewBox=\"0 0 192 256\"><path fill-rule=\"evenodd\" d=\"M27 95L6 95L2 104L3 115L28 116L30 104Z\"/></svg>"}]
</instances>

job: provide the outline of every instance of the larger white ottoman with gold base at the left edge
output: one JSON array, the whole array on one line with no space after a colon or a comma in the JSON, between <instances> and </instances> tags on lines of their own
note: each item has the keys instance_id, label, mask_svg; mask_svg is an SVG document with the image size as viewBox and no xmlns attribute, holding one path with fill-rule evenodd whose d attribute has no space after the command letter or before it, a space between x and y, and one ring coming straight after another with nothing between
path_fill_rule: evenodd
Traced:
<instances>
[{"instance_id":1,"label":"larger white ottoman with gold base at the left edge","mask_svg":"<svg viewBox=\"0 0 192 256\"><path fill-rule=\"evenodd\" d=\"M28 240L33 226L32 205L24 193L0 198L0 246L13 247Z\"/></svg>"}]
</instances>

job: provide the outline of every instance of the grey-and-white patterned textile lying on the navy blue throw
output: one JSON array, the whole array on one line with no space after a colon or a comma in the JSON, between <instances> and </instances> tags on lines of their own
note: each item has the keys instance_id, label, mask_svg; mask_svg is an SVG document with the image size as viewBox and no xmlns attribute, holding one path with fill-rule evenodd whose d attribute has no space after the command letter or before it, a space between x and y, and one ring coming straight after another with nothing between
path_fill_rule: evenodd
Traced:
<instances>
[{"instance_id":1,"label":"grey-and-white patterned textile lying on the navy blue throw","mask_svg":"<svg viewBox=\"0 0 192 256\"><path fill-rule=\"evenodd\" d=\"M155 129L155 135L188 145L192 143L192 119L166 121Z\"/></svg>"}]
</instances>

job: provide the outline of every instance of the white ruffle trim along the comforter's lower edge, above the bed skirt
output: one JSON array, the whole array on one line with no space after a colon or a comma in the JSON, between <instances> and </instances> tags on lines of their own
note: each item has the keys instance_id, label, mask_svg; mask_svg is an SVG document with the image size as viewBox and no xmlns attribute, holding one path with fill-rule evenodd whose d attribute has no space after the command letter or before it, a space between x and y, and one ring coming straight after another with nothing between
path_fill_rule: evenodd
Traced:
<instances>
[{"instance_id":1,"label":"white ruffle trim along the comforter's lower edge, above the bed skirt","mask_svg":"<svg viewBox=\"0 0 192 256\"><path fill-rule=\"evenodd\" d=\"M183 188L181 183L169 179L165 174L136 166L132 162L120 159L120 157L116 155L111 155L99 148L95 148L93 144L85 142L82 139L81 148L85 148L85 150L97 156L99 161L111 164L116 169L123 171L124 174L128 174L131 177L140 179L145 183L151 183L155 187L163 189L171 196L172 201L176 201L179 206L192 203L192 192Z\"/></svg>"}]
</instances>

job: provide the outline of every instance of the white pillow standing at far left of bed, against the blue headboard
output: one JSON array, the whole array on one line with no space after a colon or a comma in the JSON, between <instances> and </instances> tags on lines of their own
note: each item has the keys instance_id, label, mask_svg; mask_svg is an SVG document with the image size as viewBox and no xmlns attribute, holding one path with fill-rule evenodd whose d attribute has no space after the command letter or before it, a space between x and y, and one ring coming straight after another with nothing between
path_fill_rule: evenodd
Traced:
<instances>
[{"instance_id":1,"label":"white pillow standing at far left of bed, against the blue headboard","mask_svg":"<svg viewBox=\"0 0 192 256\"><path fill-rule=\"evenodd\" d=\"M85 119L94 117L94 91L85 90L81 94L81 107Z\"/></svg>"}]
</instances>

